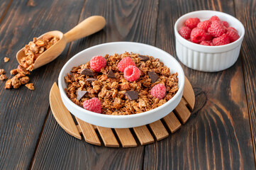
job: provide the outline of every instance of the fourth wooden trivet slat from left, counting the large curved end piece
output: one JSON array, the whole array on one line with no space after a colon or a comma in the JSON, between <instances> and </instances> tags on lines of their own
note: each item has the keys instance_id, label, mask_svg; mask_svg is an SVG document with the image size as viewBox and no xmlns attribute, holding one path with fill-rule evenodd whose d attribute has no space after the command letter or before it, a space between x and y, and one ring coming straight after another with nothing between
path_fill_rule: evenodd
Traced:
<instances>
[{"instance_id":1,"label":"fourth wooden trivet slat from left, counting the large curved end piece","mask_svg":"<svg viewBox=\"0 0 256 170\"><path fill-rule=\"evenodd\" d=\"M123 147L137 147L137 143L129 129L115 129Z\"/></svg>"}]
</instances>

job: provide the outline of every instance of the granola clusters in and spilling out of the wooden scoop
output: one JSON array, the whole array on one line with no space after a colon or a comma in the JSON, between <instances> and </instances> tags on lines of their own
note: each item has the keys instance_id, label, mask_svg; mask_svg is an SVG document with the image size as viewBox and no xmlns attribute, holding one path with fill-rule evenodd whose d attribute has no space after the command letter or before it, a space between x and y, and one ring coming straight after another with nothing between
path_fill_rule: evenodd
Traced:
<instances>
[{"instance_id":1,"label":"granola clusters in and spilling out of the wooden scoop","mask_svg":"<svg viewBox=\"0 0 256 170\"><path fill-rule=\"evenodd\" d=\"M40 39L33 38L33 41L30 41L28 45L23 48L25 56L21 59L21 64L18 65L17 69L11 70L10 73L14 76L6 81L5 89L18 89L22 84L25 84L28 89L34 90L35 87L33 84L28 84L28 75L33 70L35 60L58 40L59 38L52 35L45 35ZM5 57L4 62L8 61L9 58ZM7 79L7 77L5 74L1 74L0 79L4 80Z\"/></svg>"}]
</instances>

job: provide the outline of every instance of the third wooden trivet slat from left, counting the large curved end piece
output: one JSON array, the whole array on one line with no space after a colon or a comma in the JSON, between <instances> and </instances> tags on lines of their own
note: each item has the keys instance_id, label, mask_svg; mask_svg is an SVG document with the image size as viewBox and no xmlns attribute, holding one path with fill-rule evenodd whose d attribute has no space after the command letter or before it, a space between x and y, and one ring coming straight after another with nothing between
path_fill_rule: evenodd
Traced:
<instances>
[{"instance_id":1,"label":"third wooden trivet slat from left, counting the large curved end piece","mask_svg":"<svg viewBox=\"0 0 256 170\"><path fill-rule=\"evenodd\" d=\"M106 147L119 147L119 144L116 140L115 135L113 135L111 128L97 126L97 129Z\"/></svg>"}]
</instances>

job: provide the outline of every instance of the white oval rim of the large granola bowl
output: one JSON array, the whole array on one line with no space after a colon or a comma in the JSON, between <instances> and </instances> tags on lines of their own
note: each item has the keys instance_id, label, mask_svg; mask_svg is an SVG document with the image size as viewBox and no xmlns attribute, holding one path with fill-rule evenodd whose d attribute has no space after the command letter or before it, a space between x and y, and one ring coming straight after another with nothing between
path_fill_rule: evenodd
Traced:
<instances>
[{"instance_id":1,"label":"white oval rim of the large granola bowl","mask_svg":"<svg viewBox=\"0 0 256 170\"><path fill-rule=\"evenodd\" d=\"M91 50L91 49L94 49L94 48L97 48L97 47L100 47L100 46L104 46L104 45L115 45L115 44L120 44L120 43L124 43L124 44L139 44L139 45L143 45L143 46L148 46L148 47L151 47L151 48L154 48L155 50L159 50L161 52L164 52L166 53L166 55L169 55L169 57L172 57L174 59L174 62L176 62L175 64L177 64L177 66L179 67L179 69L181 70L181 73L182 75L180 75L179 77L179 81L180 81L180 86L179 86L179 90L177 91L177 94L175 94L169 101L167 101L166 103L164 103L162 106L159 106L157 108L154 108L150 111L146 111L146 112L143 112L143 113L138 113L138 114L133 114L133 115L106 115L106 114L101 114L101 113L94 113L94 112L91 112L91 111L87 111L85 110L84 108L81 108L79 106L77 106L75 103L73 103L68 97L67 97L67 94L65 93L64 91L64 88L62 87L62 79L64 79L64 76L66 76L67 72L64 72L65 68L70 64L72 63L72 60L74 60L75 57L79 56L82 52L84 52L85 50ZM103 44L100 44L100 45L94 45L93 47L89 47L85 50L82 50L81 52L78 52L76 55L74 55L73 57L71 57L66 63L65 65L62 67L61 71L60 71L60 74L59 74L59 77L58 77L58 85L59 85L59 89L60 89L60 94L61 95L61 98L64 97L65 100L70 103L72 105L72 107L74 108L77 108L78 111L81 111L81 112L85 112L89 115L95 115L95 116L99 116L101 118L115 118L115 119L123 119L123 118L139 118L141 116L145 116L145 115L149 115L149 114L152 114L152 113L155 113L157 112L158 110L160 110L161 108L164 108L165 106L167 106L169 103L171 103L172 101L174 101L178 96L179 94L181 94L183 92L183 89L184 89L184 83L185 83L185 75L184 75L184 71L182 69L182 66L179 64L179 62L172 56L170 55L168 52L165 52L164 50L161 50L160 48L158 47L155 47L155 46L152 46L152 45L147 45L147 44L143 44L143 43L140 43L140 42L125 42L125 41L120 41L120 42L106 42L106 43L103 43ZM69 71L70 72L70 71Z\"/></svg>"}]
</instances>

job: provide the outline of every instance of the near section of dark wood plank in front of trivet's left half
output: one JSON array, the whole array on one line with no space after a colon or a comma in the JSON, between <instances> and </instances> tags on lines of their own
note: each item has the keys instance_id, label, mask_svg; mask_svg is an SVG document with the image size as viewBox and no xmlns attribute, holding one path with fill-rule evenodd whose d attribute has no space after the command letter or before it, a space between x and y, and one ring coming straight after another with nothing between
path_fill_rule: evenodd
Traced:
<instances>
[{"instance_id":1,"label":"near section of dark wood plank in front of trivet's left half","mask_svg":"<svg viewBox=\"0 0 256 170\"><path fill-rule=\"evenodd\" d=\"M142 151L141 146L98 147L77 140L60 128L50 112L31 169L141 169Z\"/></svg>"}]
</instances>

